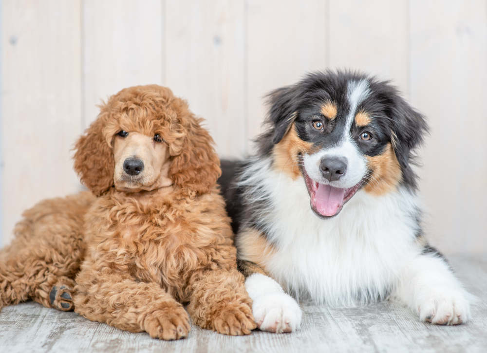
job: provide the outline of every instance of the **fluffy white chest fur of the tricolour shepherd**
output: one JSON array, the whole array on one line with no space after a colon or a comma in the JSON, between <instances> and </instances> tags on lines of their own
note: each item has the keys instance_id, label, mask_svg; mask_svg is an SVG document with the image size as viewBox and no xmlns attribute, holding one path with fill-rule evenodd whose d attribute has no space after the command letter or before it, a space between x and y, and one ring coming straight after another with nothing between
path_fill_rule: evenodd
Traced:
<instances>
[{"instance_id":1,"label":"fluffy white chest fur of the tricolour shepherd","mask_svg":"<svg viewBox=\"0 0 487 353\"><path fill-rule=\"evenodd\" d=\"M323 220L309 207L303 178L266 174L274 206L264 222L277 252L265 267L296 297L347 306L384 298L399 269L419 254L416 200L407 190L358 191L337 217Z\"/></svg>"}]
</instances>

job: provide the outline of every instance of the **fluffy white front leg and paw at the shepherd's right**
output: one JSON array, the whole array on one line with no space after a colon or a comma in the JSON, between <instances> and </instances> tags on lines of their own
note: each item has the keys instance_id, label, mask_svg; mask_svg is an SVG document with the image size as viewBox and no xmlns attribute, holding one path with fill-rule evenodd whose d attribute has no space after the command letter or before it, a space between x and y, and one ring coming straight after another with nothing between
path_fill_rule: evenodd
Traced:
<instances>
[{"instance_id":1,"label":"fluffy white front leg and paw at the shepherd's right","mask_svg":"<svg viewBox=\"0 0 487 353\"><path fill-rule=\"evenodd\" d=\"M468 297L437 252L419 255L402 269L394 297L409 305L421 321L458 325L470 318Z\"/></svg>"}]
</instances>

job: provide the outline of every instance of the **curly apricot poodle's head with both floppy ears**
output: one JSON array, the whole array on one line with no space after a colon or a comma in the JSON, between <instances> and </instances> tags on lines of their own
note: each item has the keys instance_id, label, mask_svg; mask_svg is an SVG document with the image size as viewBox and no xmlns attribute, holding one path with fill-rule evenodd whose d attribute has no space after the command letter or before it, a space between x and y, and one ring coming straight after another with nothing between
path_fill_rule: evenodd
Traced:
<instances>
[{"instance_id":1,"label":"curly apricot poodle's head with both floppy ears","mask_svg":"<svg viewBox=\"0 0 487 353\"><path fill-rule=\"evenodd\" d=\"M176 185L204 194L221 174L213 140L186 101L157 85L126 88L101 106L79 138L75 171L100 196Z\"/></svg>"}]
</instances>

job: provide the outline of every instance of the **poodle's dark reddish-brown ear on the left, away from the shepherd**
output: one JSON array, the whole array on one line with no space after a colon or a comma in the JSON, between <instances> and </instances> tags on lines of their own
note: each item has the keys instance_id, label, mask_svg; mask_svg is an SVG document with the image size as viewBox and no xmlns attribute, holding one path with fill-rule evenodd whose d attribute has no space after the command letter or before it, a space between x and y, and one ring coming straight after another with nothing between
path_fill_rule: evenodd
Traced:
<instances>
[{"instance_id":1,"label":"poodle's dark reddish-brown ear on the left, away from the shepherd","mask_svg":"<svg viewBox=\"0 0 487 353\"><path fill-rule=\"evenodd\" d=\"M81 183L96 196L101 196L113 186L115 160L112 148L103 135L104 121L101 114L75 146L75 171Z\"/></svg>"}]
</instances>

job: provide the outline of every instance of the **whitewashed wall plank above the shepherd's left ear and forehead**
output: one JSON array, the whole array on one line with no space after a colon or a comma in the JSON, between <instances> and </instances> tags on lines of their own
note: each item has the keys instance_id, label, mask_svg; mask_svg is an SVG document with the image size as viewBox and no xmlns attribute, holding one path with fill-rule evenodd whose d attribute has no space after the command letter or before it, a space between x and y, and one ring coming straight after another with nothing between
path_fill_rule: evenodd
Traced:
<instances>
[{"instance_id":1,"label":"whitewashed wall plank above the shepherd's left ear and forehead","mask_svg":"<svg viewBox=\"0 0 487 353\"><path fill-rule=\"evenodd\" d=\"M257 137L267 112L264 96L326 69L326 1L248 0L248 136Z\"/></svg>"}]
</instances>

